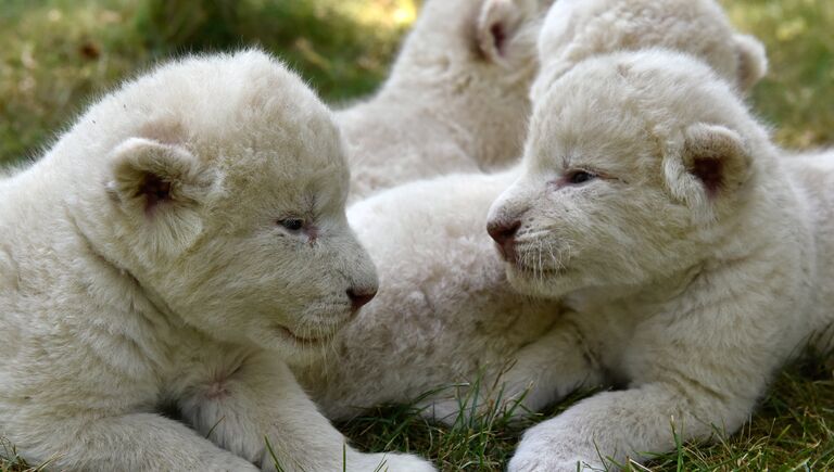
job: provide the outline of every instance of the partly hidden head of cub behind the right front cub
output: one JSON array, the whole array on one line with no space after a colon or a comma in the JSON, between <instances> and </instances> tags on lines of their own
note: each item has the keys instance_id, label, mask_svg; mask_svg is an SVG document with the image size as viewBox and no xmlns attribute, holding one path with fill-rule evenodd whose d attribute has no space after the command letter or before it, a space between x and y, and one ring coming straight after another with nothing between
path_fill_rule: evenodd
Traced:
<instances>
[{"instance_id":1,"label":"partly hidden head of cub behind the right front cub","mask_svg":"<svg viewBox=\"0 0 834 472\"><path fill-rule=\"evenodd\" d=\"M539 35L531 94L591 56L653 47L695 55L742 91L768 68L764 47L736 33L716 0L559 0Z\"/></svg>"}]
</instances>

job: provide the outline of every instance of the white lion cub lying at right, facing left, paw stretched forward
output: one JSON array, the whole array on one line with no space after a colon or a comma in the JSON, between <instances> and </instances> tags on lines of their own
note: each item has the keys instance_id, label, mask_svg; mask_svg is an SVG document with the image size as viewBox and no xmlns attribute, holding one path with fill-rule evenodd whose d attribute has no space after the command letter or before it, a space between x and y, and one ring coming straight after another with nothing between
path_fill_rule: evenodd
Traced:
<instances>
[{"instance_id":1,"label":"white lion cub lying at right, facing left, paw stretched forward","mask_svg":"<svg viewBox=\"0 0 834 472\"><path fill-rule=\"evenodd\" d=\"M831 161L786 165L691 56L591 59L547 90L489 222L513 286L569 308L520 353L521 378L626 388L529 430L509 470L641 461L673 448L672 429L735 431L832 317Z\"/></svg>"}]
</instances>

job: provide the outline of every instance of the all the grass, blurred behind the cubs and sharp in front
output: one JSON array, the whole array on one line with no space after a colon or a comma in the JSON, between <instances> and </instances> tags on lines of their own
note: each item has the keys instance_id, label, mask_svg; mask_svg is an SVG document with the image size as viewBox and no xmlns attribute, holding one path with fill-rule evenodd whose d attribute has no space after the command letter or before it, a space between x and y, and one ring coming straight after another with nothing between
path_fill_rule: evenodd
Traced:
<instances>
[{"instance_id":1,"label":"all the grass, blurred behind the cubs and sharp in front","mask_svg":"<svg viewBox=\"0 0 834 472\"><path fill-rule=\"evenodd\" d=\"M438 0L439 1L439 0ZM742 29L768 46L771 73L754 91L776 140L834 143L834 2L725 0ZM258 43L326 100L370 92L384 77L415 0L2 0L0 164L33 158L85 104L154 61ZM573 399L555 406L549 414ZM538 421L546 416L531 419ZM444 470L502 470L519 428L501 418L448 429L405 406L340 425L369 450L430 457ZM670 430L671 434L671 430ZM789 366L742 432L682 444L650 470L834 470L834 375L817 360ZM0 445L0 472L28 465Z\"/></svg>"}]
</instances>

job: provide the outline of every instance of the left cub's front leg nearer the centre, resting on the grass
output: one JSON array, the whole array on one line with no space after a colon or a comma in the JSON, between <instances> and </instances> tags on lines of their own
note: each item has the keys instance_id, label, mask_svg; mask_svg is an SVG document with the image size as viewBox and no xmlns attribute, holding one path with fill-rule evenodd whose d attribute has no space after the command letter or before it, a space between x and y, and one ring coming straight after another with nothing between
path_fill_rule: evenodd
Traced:
<instances>
[{"instance_id":1,"label":"left cub's front leg nearer the centre, resting on the grass","mask_svg":"<svg viewBox=\"0 0 834 472\"><path fill-rule=\"evenodd\" d=\"M215 372L216 373L216 372ZM214 375L180 404L184 417L224 449L285 471L433 471L414 456L361 454L316 409L280 360L256 354L218 379ZM344 454L344 456L343 456Z\"/></svg>"}]
</instances>

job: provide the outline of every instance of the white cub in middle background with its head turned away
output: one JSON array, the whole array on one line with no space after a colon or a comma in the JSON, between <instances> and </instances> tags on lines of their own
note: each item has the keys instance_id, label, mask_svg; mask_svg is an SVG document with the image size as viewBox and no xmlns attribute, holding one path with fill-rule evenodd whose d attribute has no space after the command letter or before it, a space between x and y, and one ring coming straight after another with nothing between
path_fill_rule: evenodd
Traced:
<instances>
[{"instance_id":1,"label":"white cub in middle background with its head turned away","mask_svg":"<svg viewBox=\"0 0 834 472\"><path fill-rule=\"evenodd\" d=\"M337 113L351 200L518 157L538 25L553 0L429 0L370 100Z\"/></svg>"}]
</instances>

